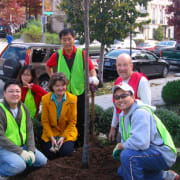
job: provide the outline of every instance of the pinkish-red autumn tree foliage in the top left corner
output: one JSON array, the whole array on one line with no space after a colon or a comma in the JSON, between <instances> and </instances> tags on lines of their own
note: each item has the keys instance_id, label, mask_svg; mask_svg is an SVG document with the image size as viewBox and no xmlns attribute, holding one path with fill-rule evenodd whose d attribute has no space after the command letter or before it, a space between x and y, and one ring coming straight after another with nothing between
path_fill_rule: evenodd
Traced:
<instances>
[{"instance_id":1,"label":"pinkish-red autumn tree foliage in the top left corner","mask_svg":"<svg viewBox=\"0 0 180 180\"><path fill-rule=\"evenodd\" d=\"M17 4L17 0L1 0L0 11L5 24L25 22L24 9Z\"/></svg>"}]
</instances>

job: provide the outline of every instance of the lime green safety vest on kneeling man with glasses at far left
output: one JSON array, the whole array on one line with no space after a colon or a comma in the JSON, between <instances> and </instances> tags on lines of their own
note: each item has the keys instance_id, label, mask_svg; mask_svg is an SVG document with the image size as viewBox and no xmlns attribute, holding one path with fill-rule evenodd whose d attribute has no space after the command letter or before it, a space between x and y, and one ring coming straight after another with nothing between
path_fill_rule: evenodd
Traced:
<instances>
[{"instance_id":1,"label":"lime green safety vest on kneeling man with glasses at far left","mask_svg":"<svg viewBox=\"0 0 180 180\"><path fill-rule=\"evenodd\" d=\"M7 119L7 128L5 131L5 136L17 146L22 146L26 144L26 113L23 105L21 105L22 111L22 119L20 129L13 115L9 112L9 110L4 106L3 103L0 103L0 106L4 110Z\"/></svg>"}]
</instances>

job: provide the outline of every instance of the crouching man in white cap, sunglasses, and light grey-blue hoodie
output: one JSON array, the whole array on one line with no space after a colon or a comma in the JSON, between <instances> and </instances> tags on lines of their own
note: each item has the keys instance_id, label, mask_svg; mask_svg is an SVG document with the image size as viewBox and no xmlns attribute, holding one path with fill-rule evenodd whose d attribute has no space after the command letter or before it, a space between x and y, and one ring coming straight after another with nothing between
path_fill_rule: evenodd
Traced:
<instances>
[{"instance_id":1,"label":"crouching man in white cap, sunglasses, and light grey-blue hoodie","mask_svg":"<svg viewBox=\"0 0 180 180\"><path fill-rule=\"evenodd\" d=\"M121 143L113 150L121 161L118 175L123 180L177 180L179 175L168 170L176 161L177 151L170 134L154 114L154 108L135 100L127 83L112 89L119 115ZM167 170L167 171L165 171Z\"/></svg>"}]
</instances>

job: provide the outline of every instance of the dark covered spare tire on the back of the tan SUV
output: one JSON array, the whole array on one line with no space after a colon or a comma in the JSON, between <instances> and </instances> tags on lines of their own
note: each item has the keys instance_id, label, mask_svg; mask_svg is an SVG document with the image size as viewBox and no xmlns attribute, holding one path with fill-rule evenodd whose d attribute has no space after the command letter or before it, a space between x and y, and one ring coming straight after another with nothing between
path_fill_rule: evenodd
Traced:
<instances>
[{"instance_id":1,"label":"dark covered spare tire on the back of the tan SUV","mask_svg":"<svg viewBox=\"0 0 180 180\"><path fill-rule=\"evenodd\" d=\"M16 79L21 69L21 63L14 59L7 59L3 64L4 76Z\"/></svg>"}]
</instances>

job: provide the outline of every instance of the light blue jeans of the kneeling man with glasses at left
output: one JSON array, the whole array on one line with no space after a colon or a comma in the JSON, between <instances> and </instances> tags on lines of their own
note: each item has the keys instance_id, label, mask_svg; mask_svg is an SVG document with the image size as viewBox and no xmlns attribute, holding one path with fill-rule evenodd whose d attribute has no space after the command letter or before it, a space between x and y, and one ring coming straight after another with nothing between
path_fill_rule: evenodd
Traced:
<instances>
[{"instance_id":1,"label":"light blue jeans of the kneeling man with glasses at left","mask_svg":"<svg viewBox=\"0 0 180 180\"><path fill-rule=\"evenodd\" d=\"M27 149L23 146L22 149ZM37 149L35 150L35 162L33 167L41 167L46 165L47 158ZM26 163L22 157L14 152L7 151L0 147L0 176L14 176L26 169Z\"/></svg>"}]
</instances>

